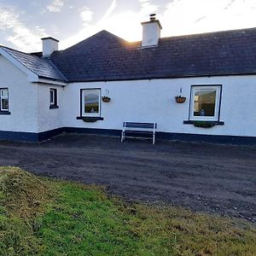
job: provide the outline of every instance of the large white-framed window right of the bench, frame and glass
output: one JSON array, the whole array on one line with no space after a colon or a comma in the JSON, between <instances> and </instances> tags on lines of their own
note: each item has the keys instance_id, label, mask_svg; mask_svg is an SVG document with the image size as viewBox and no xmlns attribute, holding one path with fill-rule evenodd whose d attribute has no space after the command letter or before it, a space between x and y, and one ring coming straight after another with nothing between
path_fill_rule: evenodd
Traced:
<instances>
[{"instance_id":1,"label":"large white-framed window right of the bench, frame and glass","mask_svg":"<svg viewBox=\"0 0 256 256\"><path fill-rule=\"evenodd\" d=\"M218 121L221 85L192 85L190 120Z\"/></svg>"}]
</instances>

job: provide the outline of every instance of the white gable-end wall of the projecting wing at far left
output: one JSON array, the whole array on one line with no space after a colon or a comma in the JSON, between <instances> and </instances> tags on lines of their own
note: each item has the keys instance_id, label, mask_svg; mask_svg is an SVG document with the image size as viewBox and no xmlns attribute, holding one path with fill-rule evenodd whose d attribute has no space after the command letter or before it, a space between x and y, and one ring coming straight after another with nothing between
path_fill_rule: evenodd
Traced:
<instances>
[{"instance_id":1,"label":"white gable-end wall of the projecting wing at far left","mask_svg":"<svg viewBox=\"0 0 256 256\"><path fill-rule=\"evenodd\" d=\"M0 55L0 88L9 89L10 115L0 114L0 131L38 132L38 87Z\"/></svg>"}]
</instances>

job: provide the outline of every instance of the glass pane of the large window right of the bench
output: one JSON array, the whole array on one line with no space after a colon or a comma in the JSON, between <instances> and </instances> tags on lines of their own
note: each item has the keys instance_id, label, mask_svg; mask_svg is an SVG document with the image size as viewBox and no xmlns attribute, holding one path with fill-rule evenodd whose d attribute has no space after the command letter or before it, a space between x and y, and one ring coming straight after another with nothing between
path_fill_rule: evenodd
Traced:
<instances>
[{"instance_id":1,"label":"glass pane of the large window right of the bench","mask_svg":"<svg viewBox=\"0 0 256 256\"><path fill-rule=\"evenodd\" d=\"M216 104L215 89L197 89L194 97L194 116L214 116Z\"/></svg>"}]
</instances>

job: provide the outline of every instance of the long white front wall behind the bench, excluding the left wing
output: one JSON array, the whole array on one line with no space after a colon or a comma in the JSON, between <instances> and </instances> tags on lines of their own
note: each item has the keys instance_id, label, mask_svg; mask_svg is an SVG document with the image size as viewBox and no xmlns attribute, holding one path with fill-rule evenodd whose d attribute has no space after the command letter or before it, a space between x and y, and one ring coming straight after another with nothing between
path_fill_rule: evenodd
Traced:
<instances>
[{"instance_id":1,"label":"long white front wall behind the bench, excluding the left wing","mask_svg":"<svg viewBox=\"0 0 256 256\"><path fill-rule=\"evenodd\" d=\"M189 118L192 84L223 84L220 121L211 129L183 125ZM177 104L174 96L183 88L187 101ZM84 123L80 113L80 89L109 90L111 101L102 104L104 120ZM192 79L160 79L119 82L74 83L63 94L63 125L80 128L121 129L124 121L156 122L158 131L256 137L256 76Z\"/></svg>"}]
</instances>

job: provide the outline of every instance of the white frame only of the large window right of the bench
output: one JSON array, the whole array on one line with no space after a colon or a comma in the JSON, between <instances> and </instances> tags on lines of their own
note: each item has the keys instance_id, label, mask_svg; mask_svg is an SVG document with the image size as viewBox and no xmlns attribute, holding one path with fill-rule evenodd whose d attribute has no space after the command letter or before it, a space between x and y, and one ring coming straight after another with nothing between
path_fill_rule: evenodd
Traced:
<instances>
[{"instance_id":1,"label":"white frame only of the large window right of the bench","mask_svg":"<svg viewBox=\"0 0 256 256\"><path fill-rule=\"evenodd\" d=\"M214 116L194 116L195 91L196 90L206 90L206 89L216 90ZM192 121L218 121L219 113L220 113L221 90L222 90L222 85L220 85L220 84L192 85L191 86L191 94L190 94L189 120L192 120Z\"/></svg>"}]
</instances>

